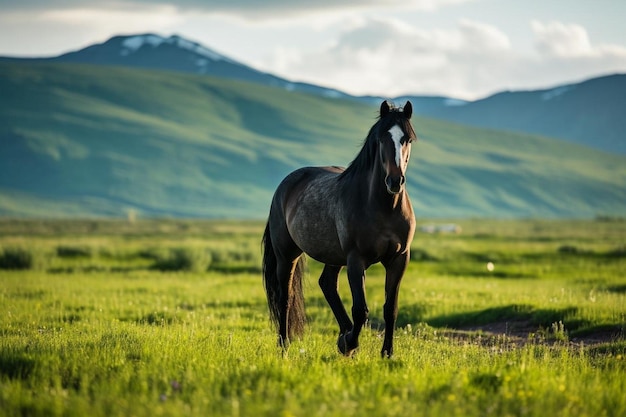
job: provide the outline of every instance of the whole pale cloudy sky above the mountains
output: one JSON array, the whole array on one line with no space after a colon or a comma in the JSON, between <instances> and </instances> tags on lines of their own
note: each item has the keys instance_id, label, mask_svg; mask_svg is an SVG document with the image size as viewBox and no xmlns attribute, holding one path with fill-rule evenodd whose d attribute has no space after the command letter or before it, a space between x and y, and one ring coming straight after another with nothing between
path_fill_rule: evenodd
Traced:
<instances>
[{"instance_id":1,"label":"whole pale cloudy sky above the mountains","mask_svg":"<svg viewBox=\"0 0 626 417\"><path fill-rule=\"evenodd\" d=\"M475 100L626 73L623 0L0 0L0 56L177 34L355 95Z\"/></svg>"}]
</instances>

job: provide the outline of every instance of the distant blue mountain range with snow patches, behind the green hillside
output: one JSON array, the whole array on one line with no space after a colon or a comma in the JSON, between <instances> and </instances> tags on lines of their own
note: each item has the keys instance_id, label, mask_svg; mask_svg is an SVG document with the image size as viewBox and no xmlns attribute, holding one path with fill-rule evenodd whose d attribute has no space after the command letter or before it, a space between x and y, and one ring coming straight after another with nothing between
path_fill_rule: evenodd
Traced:
<instances>
[{"instance_id":1,"label":"distant blue mountain range with snow patches, behind the green hillside","mask_svg":"<svg viewBox=\"0 0 626 417\"><path fill-rule=\"evenodd\" d=\"M102 44L35 61L127 66L205 74L322 97L377 105L382 97L355 97L336 89L293 82L258 71L210 48L174 35L115 36ZM23 61L0 58L0 61ZM385 97L387 98L387 97ZM402 96L416 114L478 127L552 136L607 152L626 154L626 74L547 90L502 92L477 101Z\"/></svg>"}]
</instances>

